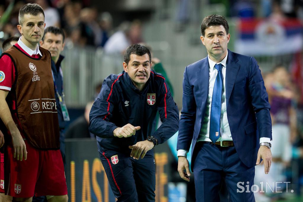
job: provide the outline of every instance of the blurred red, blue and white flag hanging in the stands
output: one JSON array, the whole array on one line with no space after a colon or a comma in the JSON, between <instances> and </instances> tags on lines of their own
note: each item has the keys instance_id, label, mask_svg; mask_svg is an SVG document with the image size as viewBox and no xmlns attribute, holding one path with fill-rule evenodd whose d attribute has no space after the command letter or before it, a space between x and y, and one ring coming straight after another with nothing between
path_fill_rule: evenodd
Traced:
<instances>
[{"instance_id":1,"label":"blurred red, blue and white flag hanging in the stands","mask_svg":"<svg viewBox=\"0 0 303 202\"><path fill-rule=\"evenodd\" d=\"M298 19L241 19L235 52L244 55L281 55L303 48L303 24Z\"/></svg>"}]
</instances>

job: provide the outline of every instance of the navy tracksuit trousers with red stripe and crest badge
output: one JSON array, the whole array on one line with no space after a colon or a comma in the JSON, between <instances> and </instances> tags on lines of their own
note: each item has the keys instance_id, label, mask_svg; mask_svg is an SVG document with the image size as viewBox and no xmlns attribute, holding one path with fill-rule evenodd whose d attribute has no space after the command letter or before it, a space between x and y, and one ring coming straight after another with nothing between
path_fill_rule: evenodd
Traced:
<instances>
[{"instance_id":1,"label":"navy tracksuit trousers with red stripe and crest badge","mask_svg":"<svg viewBox=\"0 0 303 202\"><path fill-rule=\"evenodd\" d=\"M143 159L98 148L101 163L117 202L154 202L156 172L153 150Z\"/></svg>"}]
</instances>

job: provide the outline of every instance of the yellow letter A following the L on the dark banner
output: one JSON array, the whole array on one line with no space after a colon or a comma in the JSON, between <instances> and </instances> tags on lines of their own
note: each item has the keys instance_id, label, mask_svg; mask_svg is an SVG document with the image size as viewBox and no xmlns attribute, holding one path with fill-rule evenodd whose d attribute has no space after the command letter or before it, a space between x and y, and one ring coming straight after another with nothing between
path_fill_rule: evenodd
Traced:
<instances>
[{"instance_id":1,"label":"yellow letter A following the L on the dark banner","mask_svg":"<svg viewBox=\"0 0 303 202\"><path fill-rule=\"evenodd\" d=\"M88 160L84 160L83 162L82 180L82 202L92 202Z\"/></svg>"}]
</instances>

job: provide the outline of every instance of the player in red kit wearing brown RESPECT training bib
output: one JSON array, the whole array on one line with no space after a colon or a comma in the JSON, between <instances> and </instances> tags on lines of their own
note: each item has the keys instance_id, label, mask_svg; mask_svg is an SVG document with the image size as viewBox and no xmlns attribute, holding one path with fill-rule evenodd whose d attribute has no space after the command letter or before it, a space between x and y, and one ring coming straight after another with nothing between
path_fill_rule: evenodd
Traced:
<instances>
[{"instance_id":1,"label":"player in red kit wearing brown RESPECT training bib","mask_svg":"<svg viewBox=\"0 0 303 202\"><path fill-rule=\"evenodd\" d=\"M51 54L38 46L45 15L41 6L29 3L18 19L22 36L0 57L0 117L7 128L5 194L13 201L32 201L35 194L67 202Z\"/></svg>"}]
</instances>

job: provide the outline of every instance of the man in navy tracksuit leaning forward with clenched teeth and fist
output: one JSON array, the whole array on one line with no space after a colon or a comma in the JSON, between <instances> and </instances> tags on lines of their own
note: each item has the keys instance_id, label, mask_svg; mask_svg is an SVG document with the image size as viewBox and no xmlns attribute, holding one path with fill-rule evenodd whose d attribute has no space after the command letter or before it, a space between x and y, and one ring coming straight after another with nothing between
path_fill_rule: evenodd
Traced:
<instances>
[{"instance_id":1,"label":"man in navy tracksuit leaning forward with clenched teeth and fist","mask_svg":"<svg viewBox=\"0 0 303 202\"><path fill-rule=\"evenodd\" d=\"M144 45L130 45L124 71L108 76L90 112L90 131L118 201L155 201L152 148L178 130L179 114L165 78L151 70ZM154 131L157 111L162 125Z\"/></svg>"}]
</instances>

